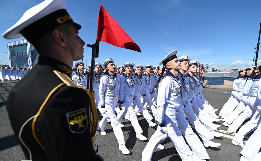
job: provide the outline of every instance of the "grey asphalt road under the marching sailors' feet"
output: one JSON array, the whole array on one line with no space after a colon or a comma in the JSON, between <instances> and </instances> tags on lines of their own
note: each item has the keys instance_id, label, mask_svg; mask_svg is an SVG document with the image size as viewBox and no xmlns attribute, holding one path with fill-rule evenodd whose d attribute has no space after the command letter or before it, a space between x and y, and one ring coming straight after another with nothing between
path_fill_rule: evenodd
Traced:
<instances>
[{"instance_id":1,"label":"grey asphalt road under the marching sailors' feet","mask_svg":"<svg viewBox=\"0 0 261 161\"><path fill-rule=\"evenodd\" d=\"M9 118L6 111L6 101L10 90L16 84L15 81L11 82L1 82L0 83L0 160L22 160L25 159L24 154L19 146L13 130L10 126ZM29 88L29 85L28 85ZM231 90L224 89L211 89L204 88L202 93L206 100L215 108L218 109L216 114L219 113L223 105L227 102L231 96ZM30 97L30 94L21 95L21 97ZM99 120L102 116L99 114ZM143 129L143 135L150 138L157 126L149 127L149 124L142 116L137 116L139 124ZM156 122L157 123L157 122ZM215 123L215 122L214 122ZM98 153L101 154L106 161L122 161L122 160L141 160L141 153L145 148L148 140L141 141L136 139L136 133L131 125L131 122L127 119L123 119L122 124L125 126L122 128L124 139L126 142L126 147L131 151L129 155L124 155L118 149L118 142L111 128L111 124L107 123L105 125L106 136L97 135L96 144L99 145ZM221 124L217 132L223 133L221 137L215 137L211 141L221 143L221 146L212 148L206 147L206 151L210 156L211 161L235 161L240 160L240 151L242 148L240 146L235 146L231 143L233 134L226 133L227 128L223 126L223 122L217 122L216 124ZM194 129L193 129L194 130ZM194 130L195 132L195 130ZM252 133L248 134L248 137ZM245 139L247 140L246 137ZM200 139L201 140L201 139ZM202 141L202 140L201 140ZM156 160L173 160L181 161L179 154L173 146L173 143L169 138L162 142L165 149L156 149L152 156L152 161Z\"/></svg>"}]
</instances>

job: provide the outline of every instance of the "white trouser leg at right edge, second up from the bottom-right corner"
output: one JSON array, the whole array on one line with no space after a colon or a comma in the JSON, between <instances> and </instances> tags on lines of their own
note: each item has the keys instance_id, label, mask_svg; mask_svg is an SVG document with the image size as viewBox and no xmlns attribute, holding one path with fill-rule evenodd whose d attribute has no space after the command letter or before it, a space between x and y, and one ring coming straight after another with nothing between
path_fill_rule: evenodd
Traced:
<instances>
[{"instance_id":1,"label":"white trouser leg at right edge, second up from the bottom-right corner","mask_svg":"<svg viewBox=\"0 0 261 161\"><path fill-rule=\"evenodd\" d=\"M261 122L261 104L257 106L257 110L250 121L245 123L241 128L239 129L238 133L233 137L233 140L238 143L243 143L244 136L249 134L251 131L257 128L257 126Z\"/></svg>"}]
</instances>

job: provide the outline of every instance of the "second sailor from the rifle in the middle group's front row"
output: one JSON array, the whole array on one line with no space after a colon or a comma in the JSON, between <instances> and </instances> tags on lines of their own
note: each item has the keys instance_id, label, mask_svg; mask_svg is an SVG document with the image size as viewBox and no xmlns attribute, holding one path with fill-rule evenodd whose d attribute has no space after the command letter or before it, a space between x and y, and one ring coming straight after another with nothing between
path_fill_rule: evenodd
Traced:
<instances>
[{"instance_id":1,"label":"second sailor from the rifle in the middle group's front row","mask_svg":"<svg viewBox=\"0 0 261 161\"><path fill-rule=\"evenodd\" d=\"M131 121L131 124L136 132L137 139L140 139L142 141L147 140L145 136L143 136L141 133L143 133L137 116L135 114L135 111L132 107L132 102L135 102L134 100L134 94L135 94L135 84L134 80L132 78L132 72L133 72L133 66L135 66L132 62L127 62L124 64L124 68L126 69L126 74L123 75L120 81L120 102L122 106L121 112L117 115L118 122L121 124L122 118L125 116L127 111L129 112L129 119Z\"/></svg>"}]
</instances>

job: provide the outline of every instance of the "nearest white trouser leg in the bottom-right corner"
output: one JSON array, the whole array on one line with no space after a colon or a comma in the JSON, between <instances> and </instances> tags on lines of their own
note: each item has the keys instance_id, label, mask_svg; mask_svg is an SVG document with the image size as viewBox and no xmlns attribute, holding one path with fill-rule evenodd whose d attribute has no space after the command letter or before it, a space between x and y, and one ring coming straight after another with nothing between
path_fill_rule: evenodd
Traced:
<instances>
[{"instance_id":1,"label":"nearest white trouser leg in the bottom-right corner","mask_svg":"<svg viewBox=\"0 0 261 161\"><path fill-rule=\"evenodd\" d=\"M241 150L241 154L244 157L252 158L259 152L261 148L261 124L257 126L256 131L247 140L244 148ZM259 158L260 160L260 158Z\"/></svg>"}]
</instances>

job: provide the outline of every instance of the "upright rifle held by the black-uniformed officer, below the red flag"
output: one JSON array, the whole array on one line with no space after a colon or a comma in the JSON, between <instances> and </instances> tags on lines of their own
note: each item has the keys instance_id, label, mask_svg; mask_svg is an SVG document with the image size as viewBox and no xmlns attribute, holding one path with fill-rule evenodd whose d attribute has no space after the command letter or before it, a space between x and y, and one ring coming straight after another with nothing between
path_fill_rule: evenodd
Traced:
<instances>
[{"instance_id":1,"label":"upright rifle held by the black-uniformed officer, below the red flag","mask_svg":"<svg viewBox=\"0 0 261 161\"><path fill-rule=\"evenodd\" d=\"M92 48L92 61L91 61L91 72L87 76L87 89L91 92L91 97L93 98L90 100L90 102L95 104L95 92L93 91L93 77L94 77L94 64L95 64L95 58L99 57L99 40L96 40L95 44L87 44L87 47ZM91 98L90 97L90 98ZM90 103L90 104L91 104ZM96 106L90 105L90 129L91 129L91 137L92 137L92 145L93 149L96 146L95 145L95 134L98 127L98 113ZM103 161L103 157L100 154L97 154L99 149L99 146L97 145L97 150L94 150L95 153L95 159Z\"/></svg>"}]
</instances>

